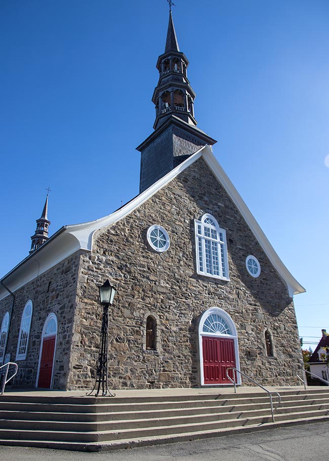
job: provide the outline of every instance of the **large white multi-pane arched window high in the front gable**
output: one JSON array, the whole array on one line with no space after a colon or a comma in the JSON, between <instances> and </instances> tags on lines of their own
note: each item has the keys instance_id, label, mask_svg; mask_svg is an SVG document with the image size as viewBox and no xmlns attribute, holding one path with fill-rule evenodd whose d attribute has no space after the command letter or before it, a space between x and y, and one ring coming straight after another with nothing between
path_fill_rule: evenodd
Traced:
<instances>
[{"instance_id":1,"label":"large white multi-pane arched window high in the front gable","mask_svg":"<svg viewBox=\"0 0 329 461\"><path fill-rule=\"evenodd\" d=\"M194 223L197 274L229 280L225 230L210 214Z\"/></svg>"}]
</instances>

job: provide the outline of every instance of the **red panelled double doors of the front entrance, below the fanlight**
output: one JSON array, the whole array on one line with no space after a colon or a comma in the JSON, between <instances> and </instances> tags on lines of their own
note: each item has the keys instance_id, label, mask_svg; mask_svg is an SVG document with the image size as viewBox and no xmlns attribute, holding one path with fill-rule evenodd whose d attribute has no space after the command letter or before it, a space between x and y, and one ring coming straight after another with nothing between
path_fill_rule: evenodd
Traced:
<instances>
[{"instance_id":1,"label":"red panelled double doors of the front entrance, below the fanlight","mask_svg":"<svg viewBox=\"0 0 329 461\"><path fill-rule=\"evenodd\" d=\"M202 336L202 351L204 384L230 384L226 369L235 367L234 339Z\"/></svg>"}]
</instances>

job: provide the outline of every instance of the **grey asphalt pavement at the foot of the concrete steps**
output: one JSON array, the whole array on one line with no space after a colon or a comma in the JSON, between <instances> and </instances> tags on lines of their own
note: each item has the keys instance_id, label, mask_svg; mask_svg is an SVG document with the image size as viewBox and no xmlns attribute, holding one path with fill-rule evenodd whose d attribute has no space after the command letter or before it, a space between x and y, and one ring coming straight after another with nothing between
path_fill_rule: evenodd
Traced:
<instances>
[{"instance_id":1,"label":"grey asphalt pavement at the foot of the concrete steps","mask_svg":"<svg viewBox=\"0 0 329 461\"><path fill-rule=\"evenodd\" d=\"M1 461L326 461L328 458L329 422L104 453L0 446Z\"/></svg>"}]
</instances>

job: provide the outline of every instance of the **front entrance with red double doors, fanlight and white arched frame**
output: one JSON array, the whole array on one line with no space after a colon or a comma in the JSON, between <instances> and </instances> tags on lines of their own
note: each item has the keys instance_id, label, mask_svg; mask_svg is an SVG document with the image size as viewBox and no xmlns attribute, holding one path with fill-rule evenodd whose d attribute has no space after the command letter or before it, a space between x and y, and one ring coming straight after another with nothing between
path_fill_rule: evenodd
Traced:
<instances>
[{"instance_id":1,"label":"front entrance with red double doors, fanlight and white arched frame","mask_svg":"<svg viewBox=\"0 0 329 461\"><path fill-rule=\"evenodd\" d=\"M199 323L200 376L202 386L231 385L229 367L240 368L236 328L220 308L205 311ZM240 376L237 376L240 383Z\"/></svg>"}]
</instances>

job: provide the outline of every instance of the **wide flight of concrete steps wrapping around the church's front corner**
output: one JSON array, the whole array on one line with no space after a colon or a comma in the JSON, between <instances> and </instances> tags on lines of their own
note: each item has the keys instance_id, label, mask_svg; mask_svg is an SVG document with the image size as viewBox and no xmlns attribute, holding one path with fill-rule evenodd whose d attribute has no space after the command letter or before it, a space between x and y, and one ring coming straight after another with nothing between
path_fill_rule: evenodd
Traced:
<instances>
[{"instance_id":1,"label":"wide flight of concrete steps wrapping around the church's front corner","mask_svg":"<svg viewBox=\"0 0 329 461\"><path fill-rule=\"evenodd\" d=\"M136 391L112 398L5 394L0 396L0 444L101 451L329 420L325 387L279 390L274 423L262 391L198 391L144 396Z\"/></svg>"}]
</instances>

